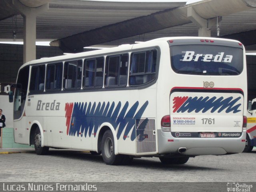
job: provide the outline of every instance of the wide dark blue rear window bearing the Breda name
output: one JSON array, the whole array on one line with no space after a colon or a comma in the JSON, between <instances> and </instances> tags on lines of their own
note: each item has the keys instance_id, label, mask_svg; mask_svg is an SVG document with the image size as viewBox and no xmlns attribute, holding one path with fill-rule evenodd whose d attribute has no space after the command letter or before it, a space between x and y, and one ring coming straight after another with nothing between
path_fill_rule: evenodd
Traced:
<instances>
[{"instance_id":1,"label":"wide dark blue rear window bearing the Breda name","mask_svg":"<svg viewBox=\"0 0 256 192\"><path fill-rule=\"evenodd\" d=\"M172 69L179 74L239 75L243 70L243 50L215 45L170 47Z\"/></svg>"}]
</instances>

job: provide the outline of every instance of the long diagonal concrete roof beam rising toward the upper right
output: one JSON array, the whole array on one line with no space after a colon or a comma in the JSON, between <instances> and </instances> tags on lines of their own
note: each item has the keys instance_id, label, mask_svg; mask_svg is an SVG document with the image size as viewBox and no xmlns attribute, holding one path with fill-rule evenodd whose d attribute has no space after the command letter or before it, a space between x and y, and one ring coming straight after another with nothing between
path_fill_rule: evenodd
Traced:
<instances>
[{"instance_id":1,"label":"long diagonal concrete roof beam rising toward the upper right","mask_svg":"<svg viewBox=\"0 0 256 192\"><path fill-rule=\"evenodd\" d=\"M254 0L204 0L54 40L50 45L59 46L64 52L77 52L86 46L188 24L192 22L187 17L189 7L192 7L200 17L210 19L255 8L256 2Z\"/></svg>"}]
</instances>

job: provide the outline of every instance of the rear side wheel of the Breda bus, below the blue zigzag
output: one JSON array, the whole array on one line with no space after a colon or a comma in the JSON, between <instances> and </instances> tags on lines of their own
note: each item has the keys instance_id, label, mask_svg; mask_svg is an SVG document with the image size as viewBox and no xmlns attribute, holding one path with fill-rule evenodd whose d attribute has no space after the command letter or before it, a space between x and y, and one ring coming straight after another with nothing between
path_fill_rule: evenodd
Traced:
<instances>
[{"instance_id":1,"label":"rear side wheel of the Breda bus, below the blue zigzag","mask_svg":"<svg viewBox=\"0 0 256 192\"><path fill-rule=\"evenodd\" d=\"M102 158L107 165L119 165L124 159L122 155L115 155L114 148L114 136L110 130L107 130L102 137L101 143Z\"/></svg>"}]
</instances>

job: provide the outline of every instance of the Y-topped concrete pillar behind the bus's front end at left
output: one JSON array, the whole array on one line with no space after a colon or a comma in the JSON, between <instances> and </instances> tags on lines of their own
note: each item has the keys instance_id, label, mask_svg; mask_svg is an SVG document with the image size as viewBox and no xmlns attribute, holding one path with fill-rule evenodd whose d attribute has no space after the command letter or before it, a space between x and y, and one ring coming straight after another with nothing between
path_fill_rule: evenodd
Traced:
<instances>
[{"instance_id":1,"label":"Y-topped concrete pillar behind the bus's front end at left","mask_svg":"<svg viewBox=\"0 0 256 192\"><path fill-rule=\"evenodd\" d=\"M12 0L12 4L21 12L23 17L23 62L36 59L36 16L49 9L49 4L30 8L21 4L18 0Z\"/></svg>"}]
</instances>

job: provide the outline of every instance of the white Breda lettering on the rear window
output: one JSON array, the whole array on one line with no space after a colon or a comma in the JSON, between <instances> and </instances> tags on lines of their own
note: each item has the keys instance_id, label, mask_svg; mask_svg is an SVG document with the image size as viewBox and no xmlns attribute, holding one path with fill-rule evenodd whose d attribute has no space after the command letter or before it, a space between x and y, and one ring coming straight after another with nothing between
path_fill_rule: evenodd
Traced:
<instances>
[{"instance_id":1,"label":"white Breda lettering on the rear window","mask_svg":"<svg viewBox=\"0 0 256 192\"><path fill-rule=\"evenodd\" d=\"M204 61L204 62L225 62L225 63L231 63L233 56L232 55L225 55L224 52L220 52L216 55L213 54L195 54L194 51L182 51L182 53L185 53L183 59L180 61Z\"/></svg>"}]
</instances>

